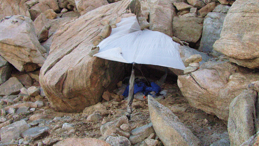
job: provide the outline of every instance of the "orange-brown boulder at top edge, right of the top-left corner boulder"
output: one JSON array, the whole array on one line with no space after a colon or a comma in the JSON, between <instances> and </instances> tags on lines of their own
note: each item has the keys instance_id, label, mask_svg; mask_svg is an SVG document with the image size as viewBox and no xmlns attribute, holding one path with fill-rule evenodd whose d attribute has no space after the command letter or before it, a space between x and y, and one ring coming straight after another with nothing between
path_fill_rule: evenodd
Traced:
<instances>
[{"instance_id":1,"label":"orange-brown boulder at top edge, right of the top-left corner boulder","mask_svg":"<svg viewBox=\"0 0 259 146\"><path fill-rule=\"evenodd\" d=\"M39 0L39 3L29 9L31 20L34 21L41 13L49 9L59 12L58 2L56 0Z\"/></svg>"}]
</instances>

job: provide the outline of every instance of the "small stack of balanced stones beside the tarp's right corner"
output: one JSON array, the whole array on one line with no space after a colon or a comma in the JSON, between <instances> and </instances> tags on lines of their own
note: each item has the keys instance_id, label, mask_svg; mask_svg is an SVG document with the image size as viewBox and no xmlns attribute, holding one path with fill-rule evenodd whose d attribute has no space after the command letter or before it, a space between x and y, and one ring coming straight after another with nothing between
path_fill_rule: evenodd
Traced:
<instances>
[{"instance_id":1,"label":"small stack of balanced stones beside the tarp's right corner","mask_svg":"<svg viewBox=\"0 0 259 146\"><path fill-rule=\"evenodd\" d=\"M184 63L189 63L189 66L185 68L184 74L189 74L199 69L200 61L202 61L201 55L195 54L191 55L189 58L186 58Z\"/></svg>"}]
</instances>

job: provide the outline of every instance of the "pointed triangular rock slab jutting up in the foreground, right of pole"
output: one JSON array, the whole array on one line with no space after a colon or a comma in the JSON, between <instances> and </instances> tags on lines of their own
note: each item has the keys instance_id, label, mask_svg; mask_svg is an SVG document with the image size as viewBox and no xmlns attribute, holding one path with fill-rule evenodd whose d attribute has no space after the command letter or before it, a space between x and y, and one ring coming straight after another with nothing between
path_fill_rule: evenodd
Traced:
<instances>
[{"instance_id":1,"label":"pointed triangular rock slab jutting up in the foreground, right of pole","mask_svg":"<svg viewBox=\"0 0 259 146\"><path fill-rule=\"evenodd\" d=\"M165 146L198 146L200 141L181 123L172 111L148 95L148 108L153 127Z\"/></svg>"}]
</instances>

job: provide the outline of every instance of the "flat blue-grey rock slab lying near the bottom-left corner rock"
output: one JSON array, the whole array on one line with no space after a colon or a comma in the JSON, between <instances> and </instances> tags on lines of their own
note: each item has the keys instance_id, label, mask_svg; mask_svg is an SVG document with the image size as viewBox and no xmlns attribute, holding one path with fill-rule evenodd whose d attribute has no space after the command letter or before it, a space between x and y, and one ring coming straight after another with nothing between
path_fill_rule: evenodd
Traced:
<instances>
[{"instance_id":1,"label":"flat blue-grey rock slab lying near the bottom-left corner rock","mask_svg":"<svg viewBox=\"0 0 259 146\"><path fill-rule=\"evenodd\" d=\"M47 132L50 128L45 127L34 127L22 132L21 136L28 139L35 139L41 136L44 132Z\"/></svg>"}]
</instances>

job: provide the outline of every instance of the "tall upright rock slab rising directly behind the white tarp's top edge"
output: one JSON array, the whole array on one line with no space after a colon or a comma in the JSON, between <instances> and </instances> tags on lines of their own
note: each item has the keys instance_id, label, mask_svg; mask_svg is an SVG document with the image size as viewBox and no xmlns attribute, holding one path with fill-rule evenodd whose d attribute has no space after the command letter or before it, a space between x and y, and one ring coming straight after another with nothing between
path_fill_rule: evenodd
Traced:
<instances>
[{"instance_id":1,"label":"tall upright rock slab rising directly behind the white tarp's top edge","mask_svg":"<svg viewBox=\"0 0 259 146\"><path fill-rule=\"evenodd\" d=\"M167 0L148 1L150 10L149 29L159 31L172 37L172 21L176 16L176 10L173 3L168 3Z\"/></svg>"}]
</instances>

